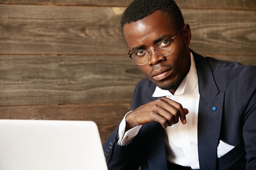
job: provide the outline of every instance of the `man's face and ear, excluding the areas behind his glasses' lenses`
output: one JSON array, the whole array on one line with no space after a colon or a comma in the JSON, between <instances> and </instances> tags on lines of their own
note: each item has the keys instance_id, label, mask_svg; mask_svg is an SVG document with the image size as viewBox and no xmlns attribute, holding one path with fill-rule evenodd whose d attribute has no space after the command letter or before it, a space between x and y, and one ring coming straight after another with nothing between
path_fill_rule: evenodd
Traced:
<instances>
[{"instance_id":1,"label":"man's face and ear, excluding the areas behind his glasses' lenses","mask_svg":"<svg viewBox=\"0 0 256 170\"><path fill-rule=\"evenodd\" d=\"M170 39L178 30L168 22L167 16L161 11L124 25L124 38L130 49L153 49L155 44L164 39ZM165 57L157 55L154 50L150 61L145 65L139 65L146 77L162 89L174 94L184 77L189 71L191 60L189 42L191 33L189 25L185 24L181 32L177 34L174 42L174 51Z\"/></svg>"}]
</instances>

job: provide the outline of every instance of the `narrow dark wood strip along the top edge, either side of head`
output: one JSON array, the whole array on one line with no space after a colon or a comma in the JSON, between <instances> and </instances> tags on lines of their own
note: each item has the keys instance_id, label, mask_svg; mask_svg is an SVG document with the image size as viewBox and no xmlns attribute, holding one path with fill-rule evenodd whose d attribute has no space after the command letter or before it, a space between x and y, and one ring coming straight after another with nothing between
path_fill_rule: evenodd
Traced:
<instances>
[{"instance_id":1,"label":"narrow dark wood strip along the top edge, either side of head","mask_svg":"<svg viewBox=\"0 0 256 170\"><path fill-rule=\"evenodd\" d=\"M3 4L35 4L35 5L90 5L127 7L132 0L0 0ZM180 8L193 9L256 9L255 0L175 0Z\"/></svg>"}]
</instances>

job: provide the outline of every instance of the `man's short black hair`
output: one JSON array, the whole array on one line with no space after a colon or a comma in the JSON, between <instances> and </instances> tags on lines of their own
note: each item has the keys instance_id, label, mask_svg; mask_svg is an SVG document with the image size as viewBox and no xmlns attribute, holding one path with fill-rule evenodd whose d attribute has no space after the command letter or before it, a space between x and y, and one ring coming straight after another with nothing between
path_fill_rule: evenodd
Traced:
<instances>
[{"instance_id":1,"label":"man's short black hair","mask_svg":"<svg viewBox=\"0 0 256 170\"><path fill-rule=\"evenodd\" d=\"M166 13L175 29L179 30L184 25L180 8L173 0L134 0L122 15L120 22L122 33L124 34L125 24L141 20L158 10Z\"/></svg>"}]
</instances>

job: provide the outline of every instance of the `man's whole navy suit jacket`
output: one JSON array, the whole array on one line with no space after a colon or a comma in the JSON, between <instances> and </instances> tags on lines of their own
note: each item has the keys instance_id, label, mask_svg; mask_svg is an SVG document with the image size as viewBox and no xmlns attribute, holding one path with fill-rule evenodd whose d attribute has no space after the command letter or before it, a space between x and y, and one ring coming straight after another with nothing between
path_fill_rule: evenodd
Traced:
<instances>
[{"instance_id":1,"label":"man's whole navy suit jacket","mask_svg":"<svg viewBox=\"0 0 256 170\"><path fill-rule=\"evenodd\" d=\"M191 51L198 73L198 154L200 170L256 170L256 66L202 57ZM132 110L151 102L156 85L141 80ZM213 111L213 107L217 110ZM103 144L109 170L167 170L164 128L157 122L141 127L127 146L117 145L118 127ZM218 158L222 140L235 146Z\"/></svg>"}]
</instances>

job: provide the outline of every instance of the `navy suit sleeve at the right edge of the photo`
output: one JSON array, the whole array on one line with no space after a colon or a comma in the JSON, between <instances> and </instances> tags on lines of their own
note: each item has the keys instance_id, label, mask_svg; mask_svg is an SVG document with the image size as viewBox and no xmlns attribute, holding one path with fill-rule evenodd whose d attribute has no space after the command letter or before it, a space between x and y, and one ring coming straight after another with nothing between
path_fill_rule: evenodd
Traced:
<instances>
[{"instance_id":1,"label":"navy suit sleeve at the right edge of the photo","mask_svg":"<svg viewBox=\"0 0 256 170\"><path fill-rule=\"evenodd\" d=\"M246 79L245 79L246 77ZM243 115L243 138L246 151L246 169L256 170L256 67L247 66L237 83L240 113Z\"/></svg>"}]
</instances>

